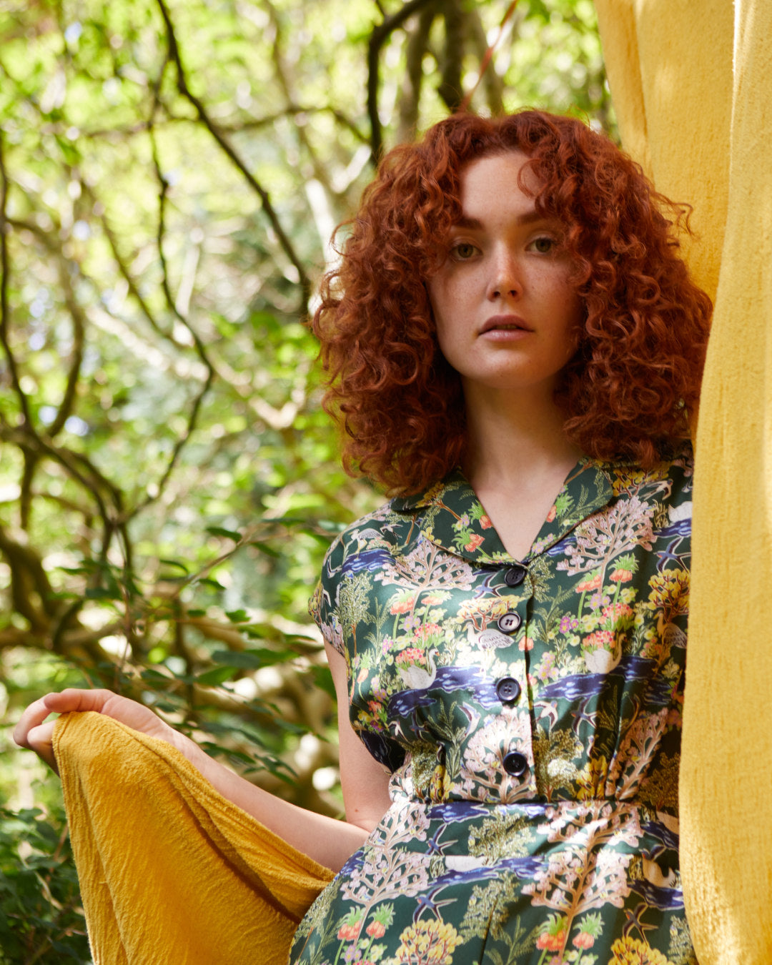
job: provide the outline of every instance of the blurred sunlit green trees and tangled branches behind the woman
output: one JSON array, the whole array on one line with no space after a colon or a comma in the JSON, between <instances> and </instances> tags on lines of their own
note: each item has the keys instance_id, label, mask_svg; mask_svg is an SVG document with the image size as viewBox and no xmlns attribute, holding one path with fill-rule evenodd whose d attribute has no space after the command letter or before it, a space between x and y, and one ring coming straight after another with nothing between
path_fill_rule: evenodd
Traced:
<instances>
[{"instance_id":1,"label":"blurred sunlit green trees and tangled branches behind the woman","mask_svg":"<svg viewBox=\"0 0 772 965\"><path fill-rule=\"evenodd\" d=\"M381 496L319 408L330 235L462 103L615 128L591 0L3 0L0 41L0 962L88 962L22 707L108 686L340 813L306 602Z\"/></svg>"}]
</instances>

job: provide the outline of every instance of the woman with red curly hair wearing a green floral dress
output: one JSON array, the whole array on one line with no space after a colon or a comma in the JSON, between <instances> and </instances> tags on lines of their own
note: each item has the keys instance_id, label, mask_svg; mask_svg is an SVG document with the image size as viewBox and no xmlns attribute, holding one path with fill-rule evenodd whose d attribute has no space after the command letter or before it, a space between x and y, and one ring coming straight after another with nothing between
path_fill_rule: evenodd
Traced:
<instances>
[{"instance_id":1,"label":"woman with red curly hair wearing a green floral dress","mask_svg":"<svg viewBox=\"0 0 772 965\"><path fill-rule=\"evenodd\" d=\"M107 692L32 704L17 741L54 764L49 711L99 709L341 869L293 962L694 961L676 782L710 304L678 218L535 111L450 118L381 164L315 318L345 458L398 494L312 600L345 822Z\"/></svg>"}]
</instances>

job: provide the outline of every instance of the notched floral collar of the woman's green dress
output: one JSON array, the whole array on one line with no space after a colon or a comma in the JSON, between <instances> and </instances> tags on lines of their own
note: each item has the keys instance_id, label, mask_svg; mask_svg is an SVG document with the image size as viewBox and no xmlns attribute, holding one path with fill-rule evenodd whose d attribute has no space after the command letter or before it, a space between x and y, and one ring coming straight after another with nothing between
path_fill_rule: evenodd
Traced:
<instances>
[{"instance_id":1,"label":"notched floral collar of the woman's green dress","mask_svg":"<svg viewBox=\"0 0 772 965\"><path fill-rule=\"evenodd\" d=\"M533 560L570 533L614 495L612 464L584 457L568 473L552 509L523 562ZM478 565L511 563L477 493L456 470L426 492L392 500L398 512L420 512L421 531L436 546Z\"/></svg>"}]
</instances>

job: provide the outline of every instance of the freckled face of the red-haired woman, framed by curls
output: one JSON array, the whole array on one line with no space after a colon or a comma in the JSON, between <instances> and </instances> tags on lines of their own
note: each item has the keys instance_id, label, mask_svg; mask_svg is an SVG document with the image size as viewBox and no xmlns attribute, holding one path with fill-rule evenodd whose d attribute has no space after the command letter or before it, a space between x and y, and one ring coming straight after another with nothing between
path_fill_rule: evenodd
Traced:
<instances>
[{"instance_id":1,"label":"freckled face of the red-haired woman, framed by curls","mask_svg":"<svg viewBox=\"0 0 772 965\"><path fill-rule=\"evenodd\" d=\"M560 249L564 226L539 215L518 186L526 161L508 152L464 169L461 218L428 283L440 349L467 398L473 387L554 389L583 317ZM526 171L528 186L529 177Z\"/></svg>"}]
</instances>

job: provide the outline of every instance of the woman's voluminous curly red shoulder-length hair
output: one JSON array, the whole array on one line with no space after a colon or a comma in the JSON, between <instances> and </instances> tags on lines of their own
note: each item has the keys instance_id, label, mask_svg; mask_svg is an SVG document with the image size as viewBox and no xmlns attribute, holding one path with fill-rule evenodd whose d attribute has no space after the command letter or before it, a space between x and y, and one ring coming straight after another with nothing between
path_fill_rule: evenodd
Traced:
<instances>
[{"instance_id":1,"label":"woman's voluminous curly red shoulder-length hair","mask_svg":"<svg viewBox=\"0 0 772 965\"><path fill-rule=\"evenodd\" d=\"M651 468L689 436L711 304L678 253L688 206L657 194L581 121L458 114L383 158L313 321L345 466L393 493L436 483L463 454L460 379L437 345L427 279L461 215L464 165L509 151L530 158L539 213L566 226L585 306L556 392L567 438L595 458Z\"/></svg>"}]
</instances>

